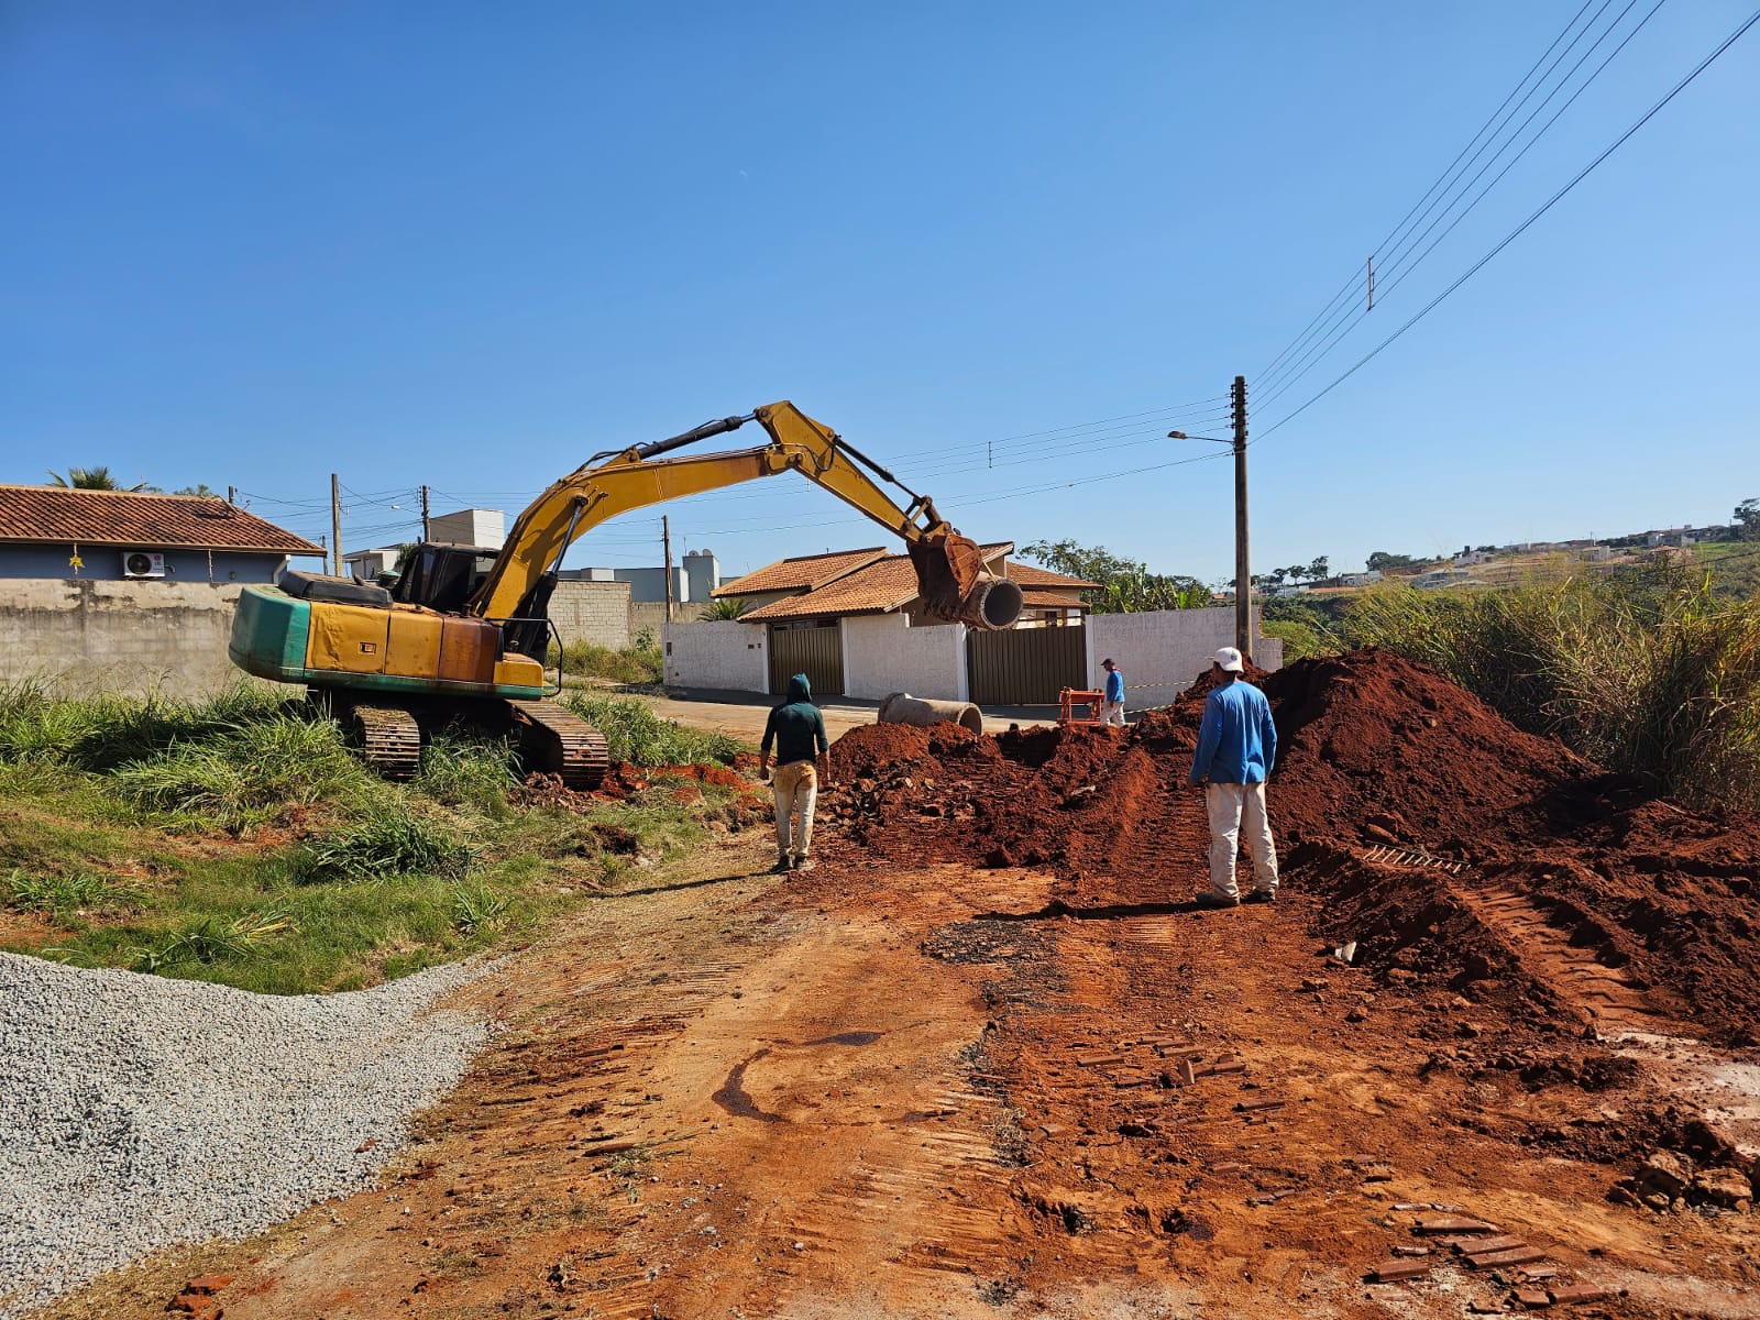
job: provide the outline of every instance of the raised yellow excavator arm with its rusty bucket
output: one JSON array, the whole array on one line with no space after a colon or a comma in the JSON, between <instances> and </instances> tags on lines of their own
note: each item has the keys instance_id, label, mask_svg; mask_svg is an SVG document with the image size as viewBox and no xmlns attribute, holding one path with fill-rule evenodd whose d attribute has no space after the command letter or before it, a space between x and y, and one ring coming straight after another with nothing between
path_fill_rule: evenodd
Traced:
<instances>
[{"instance_id":1,"label":"raised yellow excavator arm with its rusty bucket","mask_svg":"<svg viewBox=\"0 0 1760 1320\"><path fill-rule=\"evenodd\" d=\"M769 433L767 445L662 458L750 421ZM829 426L815 422L787 401L755 408L744 417L706 422L669 440L634 445L616 454L595 454L519 514L493 572L472 597L468 612L498 621L542 616L563 553L600 523L632 509L788 470L824 486L903 537L917 570L919 595L931 612L979 628L1014 627L1021 614L1021 590L984 572L977 544L959 535L935 510L933 500L905 488ZM899 507L869 472L903 489L910 503Z\"/></svg>"}]
</instances>

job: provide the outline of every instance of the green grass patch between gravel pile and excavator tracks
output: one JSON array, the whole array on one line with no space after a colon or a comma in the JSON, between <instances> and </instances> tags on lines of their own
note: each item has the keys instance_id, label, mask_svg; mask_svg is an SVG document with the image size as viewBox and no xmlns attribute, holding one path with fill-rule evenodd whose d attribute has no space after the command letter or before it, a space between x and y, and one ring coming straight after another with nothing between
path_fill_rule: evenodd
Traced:
<instances>
[{"instance_id":1,"label":"green grass patch between gravel pile and excavator tracks","mask_svg":"<svg viewBox=\"0 0 1760 1320\"><path fill-rule=\"evenodd\" d=\"M737 748L639 700L577 708L642 764ZM410 783L382 781L334 722L257 688L180 702L5 686L0 949L352 989L532 938L700 845L706 815L737 815L737 790L708 783L584 810L524 804L517 783L505 743L461 732L435 737Z\"/></svg>"}]
</instances>

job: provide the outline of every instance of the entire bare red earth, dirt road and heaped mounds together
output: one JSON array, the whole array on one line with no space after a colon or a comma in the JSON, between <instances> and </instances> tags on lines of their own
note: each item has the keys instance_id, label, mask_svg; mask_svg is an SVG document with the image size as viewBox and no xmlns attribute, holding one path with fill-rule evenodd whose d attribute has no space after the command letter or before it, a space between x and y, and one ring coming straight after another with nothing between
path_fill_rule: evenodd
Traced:
<instances>
[{"instance_id":1,"label":"entire bare red earth, dirt road and heaped mounds together","mask_svg":"<svg viewBox=\"0 0 1760 1320\"><path fill-rule=\"evenodd\" d=\"M1276 905L1188 901L1195 708L855 732L817 871L734 836L473 989L507 1031L378 1192L44 1315L1760 1315L1693 1177L1760 1139L1751 822L1408 665L1276 697Z\"/></svg>"}]
</instances>

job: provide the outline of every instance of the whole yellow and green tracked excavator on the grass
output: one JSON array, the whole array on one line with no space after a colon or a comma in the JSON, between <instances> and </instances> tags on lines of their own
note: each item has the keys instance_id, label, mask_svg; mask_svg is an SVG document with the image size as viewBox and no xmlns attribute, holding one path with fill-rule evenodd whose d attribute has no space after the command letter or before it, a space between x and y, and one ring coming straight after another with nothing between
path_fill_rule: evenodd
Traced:
<instances>
[{"instance_id":1,"label":"whole yellow and green tracked excavator on the grass","mask_svg":"<svg viewBox=\"0 0 1760 1320\"><path fill-rule=\"evenodd\" d=\"M752 421L769 444L664 458ZM595 454L519 514L500 551L422 544L391 588L306 572L246 586L227 655L257 678L306 685L385 778L415 774L424 736L465 720L517 737L528 771L597 788L609 769L604 736L549 700L561 690L561 671L551 683L544 658L563 554L618 514L781 472L799 472L903 537L931 614L980 630L1021 618L1021 588L986 570L977 544L929 496L781 401ZM876 479L910 502L899 507Z\"/></svg>"}]
</instances>

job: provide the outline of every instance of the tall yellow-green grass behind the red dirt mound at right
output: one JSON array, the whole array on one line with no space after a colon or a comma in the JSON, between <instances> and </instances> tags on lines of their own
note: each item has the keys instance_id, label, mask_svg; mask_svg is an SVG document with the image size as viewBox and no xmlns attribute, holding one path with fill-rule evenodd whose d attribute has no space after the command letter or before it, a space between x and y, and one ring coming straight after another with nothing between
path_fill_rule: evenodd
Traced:
<instances>
[{"instance_id":1,"label":"tall yellow-green grass behind the red dirt mound at right","mask_svg":"<svg viewBox=\"0 0 1760 1320\"><path fill-rule=\"evenodd\" d=\"M1760 598L1656 565L1501 591L1378 588L1345 627L1660 792L1760 808Z\"/></svg>"}]
</instances>

